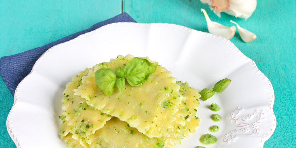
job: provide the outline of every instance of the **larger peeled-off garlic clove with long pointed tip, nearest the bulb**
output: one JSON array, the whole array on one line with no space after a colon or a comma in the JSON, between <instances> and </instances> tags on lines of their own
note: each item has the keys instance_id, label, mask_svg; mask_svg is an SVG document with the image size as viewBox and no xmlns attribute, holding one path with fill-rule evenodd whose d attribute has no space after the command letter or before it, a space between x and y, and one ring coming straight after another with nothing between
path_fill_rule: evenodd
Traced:
<instances>
[{"instance_id":1,"label":"larger peeled-off garlic clove with long pointed tip, nearest the bulb","mask_svg":"<svg viewBox=\"0 0 296 148\"><path fill-rule=\"evenodd\" d=\"M235 28L234 26L226 27L217 22L212 22L207 15L207 12L204 9L201 10L205 15L205 19L207 20L207 29L209 30L209 33L215 34L217 36L222 36L223 38L227 39L231 39L234 36L235 30L237 28Z\"/></svg>"}]
</instances>

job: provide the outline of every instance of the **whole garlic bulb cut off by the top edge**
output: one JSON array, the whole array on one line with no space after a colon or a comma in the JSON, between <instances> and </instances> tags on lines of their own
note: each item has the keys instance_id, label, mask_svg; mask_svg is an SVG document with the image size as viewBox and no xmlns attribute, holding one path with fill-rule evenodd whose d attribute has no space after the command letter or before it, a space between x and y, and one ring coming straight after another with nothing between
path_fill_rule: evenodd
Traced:
<instances>
[{"instance_id":1,"label":"whole garlic bulb cut off by the top edge","mask_svg":"<svg viewBox=\"0 0 296 148\"><path fill-rule=\"evenodd\" d=\"M235 17L249 18L255 11L257 0L200 0L204 4L210 5L218 17L220 12L225 12Z\"/></svg>"}]
</instances>

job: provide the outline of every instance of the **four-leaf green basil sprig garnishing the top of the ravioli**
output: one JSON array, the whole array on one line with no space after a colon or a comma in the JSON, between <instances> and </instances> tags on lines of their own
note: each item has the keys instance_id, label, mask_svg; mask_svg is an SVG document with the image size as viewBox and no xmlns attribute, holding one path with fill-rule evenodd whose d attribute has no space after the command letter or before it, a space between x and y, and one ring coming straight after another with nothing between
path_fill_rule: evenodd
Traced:
<instances>
[{"instance_id":1,"label":"four-leaf green basil sprig garnishing the top of the ravioli","mask_svg":"<svg viewBox=\"0 0 296 148\"><path fill-rule=\"evenodd\" d=\"M147 59L134 57L124 69L118 66L114 72L111 68L101 68L95 72L94 78L99 89L104 94L110 95L113 93L115 85L120 92L125 89L125 79L131 86L138 86L146 82L149 76L155 72L157 66L157 62L151 63Z\"/></svg>"}]
</instances>

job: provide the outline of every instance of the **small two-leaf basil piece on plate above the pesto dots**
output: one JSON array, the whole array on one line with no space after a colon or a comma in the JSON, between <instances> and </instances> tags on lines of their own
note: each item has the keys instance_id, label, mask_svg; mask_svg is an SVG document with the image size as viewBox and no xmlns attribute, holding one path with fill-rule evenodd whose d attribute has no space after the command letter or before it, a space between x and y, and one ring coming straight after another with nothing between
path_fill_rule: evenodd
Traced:
<instances>
[{"instance_id":1,"label":"small two-leaf basil piece on plate above the pesto dots","mask_svg":"<svg viewBox=\"0 0 296 148\"><path fill-rule=\"evenodd\" d=\"M202 91L200 91L200 95L202 96L203 100L207 100L210 97L214 96L215 92L220 92L222 91L226 86L229 85L229 83L231 82L231 80L229 80L228 78L225 78L223 80L218 81L214 88L212 88L212 90L210 89L203 89Z\"/></svg>"}]
</instances>

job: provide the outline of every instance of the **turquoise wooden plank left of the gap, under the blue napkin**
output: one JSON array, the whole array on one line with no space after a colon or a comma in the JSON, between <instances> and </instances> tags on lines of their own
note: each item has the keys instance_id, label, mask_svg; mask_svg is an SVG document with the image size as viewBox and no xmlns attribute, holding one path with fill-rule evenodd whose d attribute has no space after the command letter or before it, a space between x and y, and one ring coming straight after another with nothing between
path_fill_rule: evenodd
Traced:
<instances>
[{"instance_id":1,"label":"turquoise wooden plank left of the gap, under the blue napkin","mask_svg":"<svg viewBox=\"0 0 296 148\"><path fill-rule=\"evenodd\" d=\"M121 0L0 2L0 57L24 52L121 13ZM0 78L0 147L13 148L6 118L13 96Z\"/></svg>"}]
</instances>

